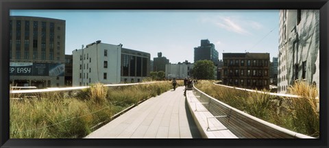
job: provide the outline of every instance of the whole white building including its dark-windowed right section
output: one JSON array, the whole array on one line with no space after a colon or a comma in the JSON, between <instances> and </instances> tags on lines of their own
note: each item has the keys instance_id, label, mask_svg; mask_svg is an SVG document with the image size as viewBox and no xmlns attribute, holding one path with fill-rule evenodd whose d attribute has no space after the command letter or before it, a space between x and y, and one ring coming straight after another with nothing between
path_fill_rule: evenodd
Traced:
<instances>
[{"instance_id":1,"label":"whole white building including its dark-windowed right section","mask_svg":"<svg viewBox=\"0 0 329 148\"><path fill-rule=\"evenodd\" d=\"M73 86L141 82L149 76L150 54L97 40L73 51Z\"/></svg>"}]
</instances>

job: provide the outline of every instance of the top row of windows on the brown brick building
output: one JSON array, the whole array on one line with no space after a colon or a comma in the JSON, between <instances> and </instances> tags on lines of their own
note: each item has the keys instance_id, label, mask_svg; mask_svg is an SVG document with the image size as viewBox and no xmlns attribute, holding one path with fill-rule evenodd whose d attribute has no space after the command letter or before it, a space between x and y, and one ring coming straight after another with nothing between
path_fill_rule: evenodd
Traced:
<instances>
[{"instance_id":1,"label":"top row of windows on the brown brick building","mask_svg":"<svg viewBox=\"0 0 329 148\"><path fill-rule=\"evenodd\" d=\"M246 66L268 66L269 64L269 60L224 60L224 66L245 66L245 61Z\"/></svg>"}]
</instances>

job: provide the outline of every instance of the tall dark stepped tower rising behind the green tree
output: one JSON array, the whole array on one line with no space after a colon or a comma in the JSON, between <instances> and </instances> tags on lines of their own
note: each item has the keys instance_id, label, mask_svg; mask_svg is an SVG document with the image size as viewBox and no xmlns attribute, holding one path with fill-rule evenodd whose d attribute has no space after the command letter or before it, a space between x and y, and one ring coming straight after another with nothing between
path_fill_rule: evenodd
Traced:
<instances>
[{"instance_id":1,"label":"tall dark stepped tower rising behind the green tree","mask_svg":"<svg viewBox=\"0 0 329 148\"><path fill-rule=\"evenodd\" d=\"M207 40L201 40L201 46L194 48L194 62L198 60L211 60L215 66L218 65L218 51L215 49L215 45Z\"/></svg>"}]
</instances>

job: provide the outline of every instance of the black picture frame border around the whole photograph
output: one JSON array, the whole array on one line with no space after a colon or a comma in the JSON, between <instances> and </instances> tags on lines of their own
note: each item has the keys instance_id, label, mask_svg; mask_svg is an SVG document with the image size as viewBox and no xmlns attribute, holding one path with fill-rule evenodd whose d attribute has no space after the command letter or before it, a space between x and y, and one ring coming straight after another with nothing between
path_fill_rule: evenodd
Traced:
<instances>
[{"instance_id":1,"label":"black picture frame border around the whole photograph","mask_svg":"<svg viewBox=\"0 0 329 148\"><path fill-rule=\"evenodd\" d=\"M318 139L10 139L10 10L320 10L320 128ZM328 0L0 0L1 147L328 147Z\"/></svg>"}]
</instances>

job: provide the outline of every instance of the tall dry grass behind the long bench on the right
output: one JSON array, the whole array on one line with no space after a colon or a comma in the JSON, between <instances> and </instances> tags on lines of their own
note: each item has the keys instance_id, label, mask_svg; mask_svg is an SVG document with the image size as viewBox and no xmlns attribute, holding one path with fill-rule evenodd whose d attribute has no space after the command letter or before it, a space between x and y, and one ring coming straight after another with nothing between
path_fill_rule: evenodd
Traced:
<instances>
[{"instance_id":1,"label":"tall dry grass behind the long bench on the right","mask_svg":"<svg viewBox=\"0 0 329 148\"><path fill-rule=\"evenodd\" d=\"M219 101L259 119L309 136L319 136L319 112L315 99L318 92L313 86L300 83L289 88L289 93L302 96L299 99L271 96L268 90L261 90L265 93L252 93L215 86L205 80L195 86Z\"/></svg>"}]
</instances>

